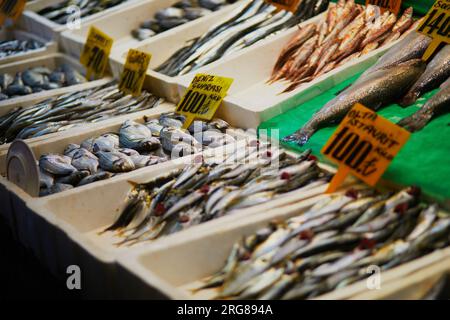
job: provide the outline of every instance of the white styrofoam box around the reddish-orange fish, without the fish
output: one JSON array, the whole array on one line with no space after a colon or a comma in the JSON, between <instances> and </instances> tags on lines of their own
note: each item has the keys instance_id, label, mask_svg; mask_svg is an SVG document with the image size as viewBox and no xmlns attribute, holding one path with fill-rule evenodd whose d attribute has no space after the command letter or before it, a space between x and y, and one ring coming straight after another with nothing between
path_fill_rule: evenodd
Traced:
<instances>
[{"instance_id":1,"label":"white styrofoam box around the reddish-orange fish, without the fish","mask_svg":"<svg viewBox=\"0 0 450 320\"><path fill-rule=\"evenodd\" d=\"M321 16L317 16L302 25L318 22L320 19ZM243 128L257 127L261 122L297 107L366 70L397 43L393 42L378 48L309 83L300 85L292 92L281 94L289 83L275 82L269 85L266 82L282 49L297 31L297 27L292 28L266 42L257 43L222 59L220 63L202 68L203 73L234 79L223 106L218 111L218 116ZM180 96L189 87L194 76L195 74L187 74L177 79L180 84Z\"/></svg>"}]
</instances>

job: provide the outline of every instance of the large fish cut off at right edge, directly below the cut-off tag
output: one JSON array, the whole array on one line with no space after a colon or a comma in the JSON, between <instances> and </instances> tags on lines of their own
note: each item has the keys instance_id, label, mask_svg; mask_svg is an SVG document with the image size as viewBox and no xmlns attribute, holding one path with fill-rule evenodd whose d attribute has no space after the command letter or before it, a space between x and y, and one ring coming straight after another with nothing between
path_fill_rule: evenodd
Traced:
<instances>
[{"instance_id":1,"label":"large fish cut off at right edge, directly below the cut-off tag","mask_svg":"<svg viewBox=\"0 0 450 320\"><path fill-rule=\"evenodd\" d=\"M445 45L427 65L425 72L409 89L400 105L409 106L424 93L438 88L450 77L450 45Z\"/></svg>"}]
</instances>

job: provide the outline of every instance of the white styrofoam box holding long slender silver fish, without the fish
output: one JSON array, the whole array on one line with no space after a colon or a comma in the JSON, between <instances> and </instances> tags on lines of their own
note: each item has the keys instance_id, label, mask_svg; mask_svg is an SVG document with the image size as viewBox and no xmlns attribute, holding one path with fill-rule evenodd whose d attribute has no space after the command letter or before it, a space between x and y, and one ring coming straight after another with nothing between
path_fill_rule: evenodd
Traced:
<instances>
[{"instance_id":1,"label":"white styrofoam box holding long slender silver fish, without the fish","mask_svg":"<svg viewBox=\"0 0 450 320\"><path fill-rule=\"evenodd\" d=\"M133 49L152 54L146 77L146 81L149 83L152 91L161 97L165 97L171 102L178 102L179 94L177 80L179 77L168 77L162 73L153 71L153 69L167 60L178 49L185 46L187 42L205 34L211 26L217 24L219 21L225 21L230 13L235 12L235 10L240 10L241 7L249 1L250 0L239 1L235 4L226 6L220 11L213 12L203 18L181 25L175 29L168 30L160 35L136 44ZM121 46L111 52L110 65L115 77L120 76L129 49L131 48L128 46Z\"/></svg>"}]
</instances>

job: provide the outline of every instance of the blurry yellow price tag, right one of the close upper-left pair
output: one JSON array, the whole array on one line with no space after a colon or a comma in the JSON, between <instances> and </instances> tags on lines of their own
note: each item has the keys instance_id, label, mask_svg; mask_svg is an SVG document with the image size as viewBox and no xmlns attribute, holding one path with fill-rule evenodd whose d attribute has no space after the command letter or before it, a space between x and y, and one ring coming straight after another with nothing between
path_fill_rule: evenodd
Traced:
<instances>
[{"instance_id":1,"label":"blurry yellow price tag, right one of the close upper-left pair","mask_svg":"<svg viewBox=\"0 0 450 320\"><path fill-rule=\"evenodd\" d=\"M120 91L133 96L141 94L151 58L152 56L149 53L134 49L128 51L127 61L120 77Z\"/></svg>"}]
</instances>

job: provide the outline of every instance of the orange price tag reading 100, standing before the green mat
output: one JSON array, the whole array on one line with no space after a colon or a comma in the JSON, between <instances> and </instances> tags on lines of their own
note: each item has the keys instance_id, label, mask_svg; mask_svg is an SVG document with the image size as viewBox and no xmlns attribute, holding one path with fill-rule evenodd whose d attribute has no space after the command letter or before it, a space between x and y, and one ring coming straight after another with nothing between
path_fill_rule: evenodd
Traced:
<instances>
[{"instance_id":1,"label":"orange price tag reading 100, standing before the green mat","mask_svg":"<svg viewBox=\"0 0 450 320\"><path fill-rule=\"evenodd\" d=\"M357 103L322 149L339 165L327 192L335 192L348 174L375 186L409 136L407 130Z\"/></svg>"}]
</instances>

